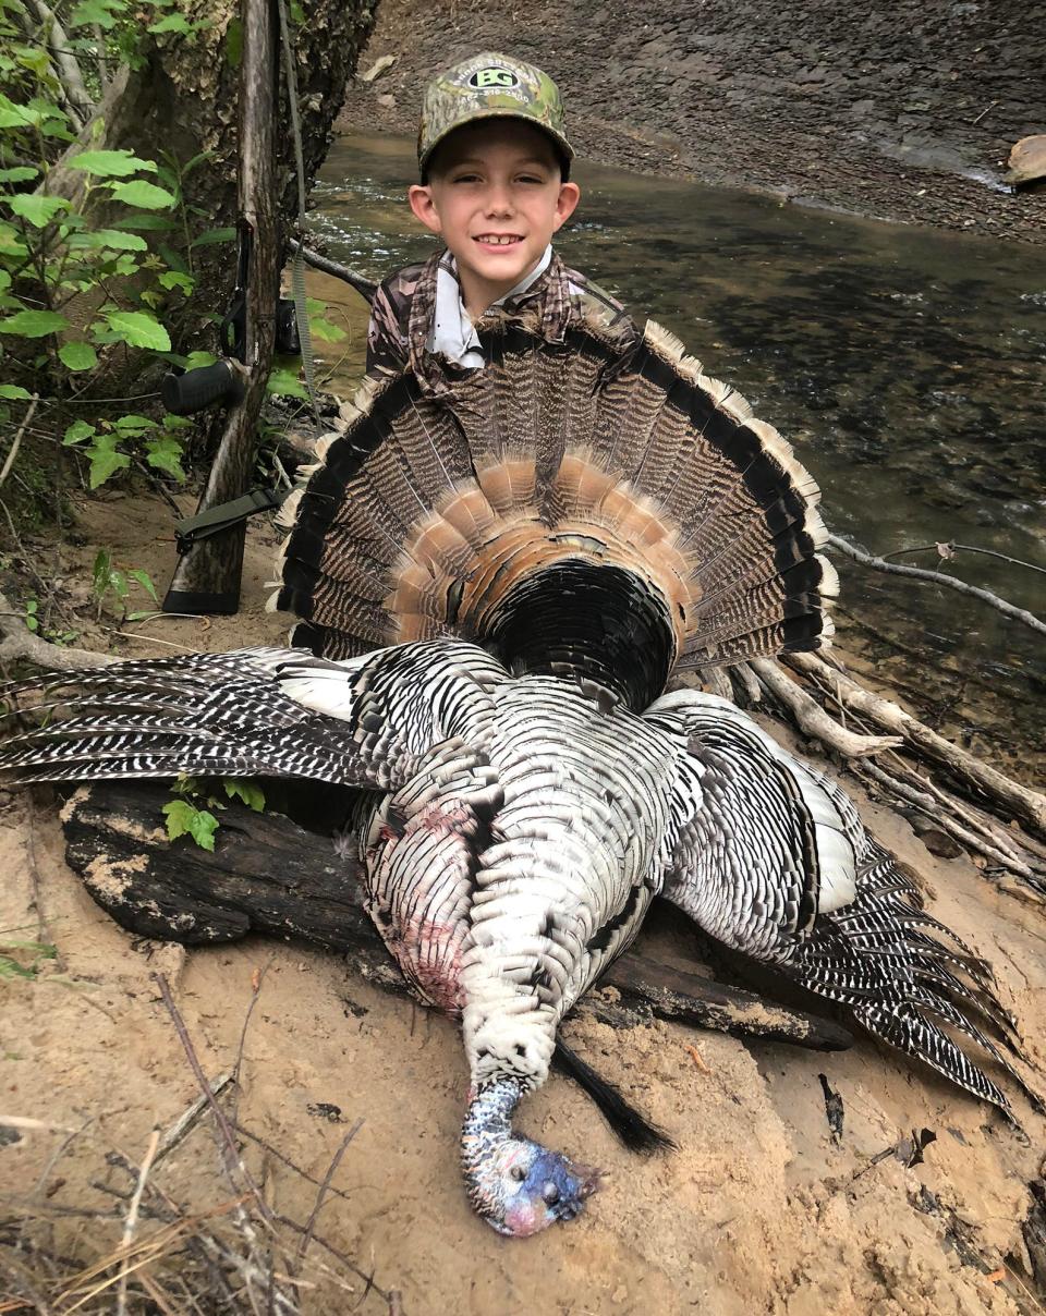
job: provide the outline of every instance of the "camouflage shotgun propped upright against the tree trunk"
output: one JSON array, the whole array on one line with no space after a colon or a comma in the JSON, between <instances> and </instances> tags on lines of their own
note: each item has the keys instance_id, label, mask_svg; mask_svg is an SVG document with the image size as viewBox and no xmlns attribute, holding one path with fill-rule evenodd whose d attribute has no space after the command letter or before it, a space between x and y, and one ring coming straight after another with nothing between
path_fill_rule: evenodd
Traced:
<instances>
[{"instance_id":1,"label":"camouflage shotgun propped upright against the tree trunk","mask_svg":"<svg viewBox=\"0 0 1046 1316\"><path fill-rule=\"evenodd\" d=\"M242 0L241 14L237 296L224 326L224 340L234 341L232 351L222 342L228 353L222 361L164 382L171 411L199 411L218 400L229 411L196 516L179 526L180 555L164 612L236 612L245 517L278 501L270 491L250 492L279 301L276 9L272 0Z\"/></svg>"}]
</instances>

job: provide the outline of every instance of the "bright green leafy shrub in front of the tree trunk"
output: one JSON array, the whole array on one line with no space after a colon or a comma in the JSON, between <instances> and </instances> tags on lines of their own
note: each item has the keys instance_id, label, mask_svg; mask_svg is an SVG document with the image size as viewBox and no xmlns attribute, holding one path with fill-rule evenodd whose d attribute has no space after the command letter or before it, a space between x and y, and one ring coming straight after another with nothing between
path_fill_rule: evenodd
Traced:
<instances>
[{"instance_id":1,"label":"bright green leafy shrub in front of the tree trunk","mask_svg":"<svg viewBox=\"0 0 1046 1316\"><path fill-rule=\"evenodd\" d=\"M107 61L139 62L143 18L147 30L186 39L209 20L191 21L178 0L59 8L61 38L50 11L37 24L39 9L0 0L0 368L11 380L0 386L0 424L11 420L11 404L38 397L59 434L64 424L63 445L87 458L91 488L136 462L180 482L191 422L104 418L105 408L88 422L74 418L71 404L113 362L125 372L180 363L164 318L193 292L193 250L228 237L207 229L209 216L186 196L186 180L208 155L182 163L171 153L147 159L109 150L97 134L87 139L83 122ZM89 84L80 88L87 108L71 92L63 53ZM80 182L70 200L51 176L68 145L80 142L63 162Z\"/></svg>"}]
</instances>

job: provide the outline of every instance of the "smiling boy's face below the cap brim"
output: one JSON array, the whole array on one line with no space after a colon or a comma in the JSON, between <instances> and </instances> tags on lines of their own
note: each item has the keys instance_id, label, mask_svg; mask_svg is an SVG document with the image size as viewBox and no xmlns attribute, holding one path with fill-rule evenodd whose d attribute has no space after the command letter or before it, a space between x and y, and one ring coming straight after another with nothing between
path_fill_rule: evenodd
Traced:
<instances>
[{"instance_id":1,"label":"smiling boy's face below the cap brim","mask_svg":"<svg viewBox=\"0 0 1046 1316\"><path fill-rule=\"evenodd\" d=\"M411 209L458 262L475 318L529 274L553 233L574 213L576 183L562 183L551 139L518 120L480 120L436 150L429 182Z\"/></svg>"}]
</instances>

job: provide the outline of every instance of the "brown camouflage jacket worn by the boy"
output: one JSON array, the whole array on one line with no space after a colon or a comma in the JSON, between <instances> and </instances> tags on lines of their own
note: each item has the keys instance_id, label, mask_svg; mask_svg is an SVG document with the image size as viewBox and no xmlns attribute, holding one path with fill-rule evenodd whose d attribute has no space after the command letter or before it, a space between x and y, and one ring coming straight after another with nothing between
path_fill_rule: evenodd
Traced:
<instances>
[{"instance_id":1,"label":"brown camouflage jacket worn by the boy","mask_svg":"<svg viewBox=\"0 0 1046 1316\"><path fill-rule=\"evenodd\" d=\"M379 286L367 329L368 375L380 378L409 367L422 388L439 395L453 372L463 368L429 351L437 272L446 254L437 253L424 265L404 266ZM622 350L638 338L638 330L624 307L599 284L576 270L568 270L555 251L549 268L500 309L509 313L537 311L542 337L549 342L562 341L567 328L583 318L595 318L616 329Z\"/></svg>"}]
</instances>

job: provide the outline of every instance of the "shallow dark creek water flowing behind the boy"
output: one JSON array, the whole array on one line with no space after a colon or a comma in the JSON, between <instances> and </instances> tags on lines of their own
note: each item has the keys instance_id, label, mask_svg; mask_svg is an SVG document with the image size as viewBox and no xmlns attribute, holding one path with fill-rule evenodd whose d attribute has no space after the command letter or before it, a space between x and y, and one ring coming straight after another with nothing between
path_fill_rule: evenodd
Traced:
<instances>
[{"instance_id":1,"label":"shallow dark creek water flowing behind the boy","mask_svg":"<svg viewBox=\"0 0 1046 1316\"><path fill-rule=\"evenodd\" d=\"M1046 613L1046 251L799 209L774 197L582 163L582 204L557 240L642 322L676 333L708 374L776 425L824 491L829 529ZM313 221L371 276L434 240L407 203L413 146L334 145ZM332 388L363 370L366 305L334 279L313 295L347 342L320 343ZM1046 753L1042 637L933 584L835 557L839 642L943 734L1028 776Z\"/></svg>"}]
</instances>

